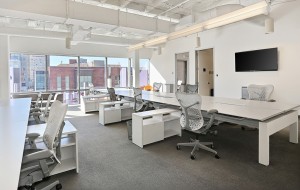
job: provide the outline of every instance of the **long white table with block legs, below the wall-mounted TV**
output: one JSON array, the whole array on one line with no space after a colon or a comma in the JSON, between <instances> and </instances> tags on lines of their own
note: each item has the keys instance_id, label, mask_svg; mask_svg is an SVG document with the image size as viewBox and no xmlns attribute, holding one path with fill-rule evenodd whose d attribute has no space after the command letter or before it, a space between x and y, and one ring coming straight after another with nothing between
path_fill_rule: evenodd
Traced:
<instances>
[{"instance_id":1,"label":"long white table with block legs, below the wall-mounted TV","mask_svg":"<svg viewBox=\"0 0 300 190\"><path fill-rule=\"evenodd\" d=\"M133 98L133 90L117 89L119 96ZM174 93L143 91L142 99L179 106ZM298 143L298 111L300 105L283 102L263 102L233 98L202 96L201 109L217 109L219 121L241 124L259 129L258 162L269 165L269 137L289 127L289 141Z\"/></svg>"}]
</instances>

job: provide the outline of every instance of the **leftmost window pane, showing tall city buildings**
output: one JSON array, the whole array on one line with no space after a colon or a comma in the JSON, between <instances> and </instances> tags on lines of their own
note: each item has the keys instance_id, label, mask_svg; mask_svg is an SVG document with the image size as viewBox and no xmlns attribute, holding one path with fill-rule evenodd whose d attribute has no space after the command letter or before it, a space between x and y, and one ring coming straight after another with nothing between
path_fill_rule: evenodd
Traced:
<instances>
[{"instance_id":1,"label":"leftmost window pane, showing tall city buildings","mask_svg":"<svg viewBox=\"0 0 300 190\"><path fill-rule=\"evenodd\" d=\"M46 90L46 56L10 54L10 91Z\"/></svg>"}]
</instances>

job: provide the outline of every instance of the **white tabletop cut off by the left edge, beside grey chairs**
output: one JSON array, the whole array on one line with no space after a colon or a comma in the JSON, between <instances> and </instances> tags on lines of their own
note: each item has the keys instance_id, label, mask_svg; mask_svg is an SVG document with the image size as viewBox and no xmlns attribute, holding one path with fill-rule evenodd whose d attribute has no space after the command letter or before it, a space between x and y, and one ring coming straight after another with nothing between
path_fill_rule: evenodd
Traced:
<instances>
[{"instance_id":1,"label":"white tabletop cut off by the left edge, beside grey chairs","mask_svg":"<svg viewBox=\"0 0 300 190\"><path fill-rule=\"evenodd\" d=\"M0 186L17 189L31 98L0 101Z\"/></svg>"}]
</instances>

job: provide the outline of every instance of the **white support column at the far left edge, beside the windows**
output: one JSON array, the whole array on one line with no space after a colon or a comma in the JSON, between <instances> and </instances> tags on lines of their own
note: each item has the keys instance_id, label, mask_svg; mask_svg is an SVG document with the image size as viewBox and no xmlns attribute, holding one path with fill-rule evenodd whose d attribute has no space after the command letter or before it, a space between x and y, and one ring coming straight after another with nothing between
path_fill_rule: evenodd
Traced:
<instances>
[{"instance_id":1,"label":"white support column at the far left edge, beside the windows","mask_svg":"<svg viewBox=\"0 0 300 190\"><path fill-rule=\"evenodd\" d=\"M0 100L9 97L9 36L0 35Z\"/></svg>"}]
</instances>

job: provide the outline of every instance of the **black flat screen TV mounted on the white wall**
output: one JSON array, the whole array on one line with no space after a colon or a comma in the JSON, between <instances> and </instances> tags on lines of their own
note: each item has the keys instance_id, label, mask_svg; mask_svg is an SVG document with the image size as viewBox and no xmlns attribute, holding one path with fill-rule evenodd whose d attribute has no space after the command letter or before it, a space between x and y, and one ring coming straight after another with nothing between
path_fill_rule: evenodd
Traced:
<instances>
[{"instance_id":1,"label":"black flat screen TV mounted on the white wall","mask_svg":"<svg viewBox=\"0 0 300 190\"><path fill-rule=\"evenodd\" d=\"M235 71L277 71L277 48L235 53Z\"/></svg>"}]
</instances>

